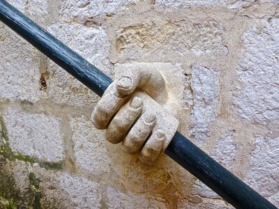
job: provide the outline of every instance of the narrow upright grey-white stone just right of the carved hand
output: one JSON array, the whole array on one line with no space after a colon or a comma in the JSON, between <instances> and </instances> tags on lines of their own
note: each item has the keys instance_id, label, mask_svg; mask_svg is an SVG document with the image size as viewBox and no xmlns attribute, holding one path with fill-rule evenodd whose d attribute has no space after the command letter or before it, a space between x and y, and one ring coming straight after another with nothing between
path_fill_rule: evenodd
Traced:
<instances>
[{"instance_id":1,"label":"narrow upright grey-white stone just right of the carved hand","mask_svg":"<svg viewBox=\"0 0 279 209\"><path fill-rule=\"evenodd\" d=\"M216 118L220 84L218 72L199 65L192 68L193 128L191 134L198 145L209 137L210 127Z\"/></svg>"}]
</instances>

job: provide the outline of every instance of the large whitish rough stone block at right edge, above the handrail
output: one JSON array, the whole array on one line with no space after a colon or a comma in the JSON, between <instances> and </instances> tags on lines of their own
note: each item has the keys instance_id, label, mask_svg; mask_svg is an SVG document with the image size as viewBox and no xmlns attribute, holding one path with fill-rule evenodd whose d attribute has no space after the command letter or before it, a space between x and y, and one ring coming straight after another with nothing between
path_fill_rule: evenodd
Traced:
<instances>
[{"instance_id":1,"label":"large whitish rough stone block at right edge, above the handrail","mask_svg":"<svg viewBox=\"0 0 279 209\"><path fill-rule=\"evenodd\" d=\"M279 119L279 19L260 21L243 35L234 104L241 118L266 124Z\"/></svg>"}]
</instances>

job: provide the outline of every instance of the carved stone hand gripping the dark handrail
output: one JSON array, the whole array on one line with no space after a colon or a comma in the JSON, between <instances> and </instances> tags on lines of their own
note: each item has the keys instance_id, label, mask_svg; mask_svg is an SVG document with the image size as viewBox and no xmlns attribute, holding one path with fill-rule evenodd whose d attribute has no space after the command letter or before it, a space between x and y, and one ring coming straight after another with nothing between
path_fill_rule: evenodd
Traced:
<instances>
[{"instance_id":1,"label":"carved stone hand gripping the dark handrail","mask_svg":"<svg viewBox=\"0 0 279 209\"><path fill-rule=\"evenodd\" d=\"M122 141L126 153L140 152L142 162L153 162L165 151L179 125L170 113L175 111L172 107L160 72L136 64L116 75L91 120L98 129L107 129L105 136L112 144Z\"/></svg>"}]
</instances>

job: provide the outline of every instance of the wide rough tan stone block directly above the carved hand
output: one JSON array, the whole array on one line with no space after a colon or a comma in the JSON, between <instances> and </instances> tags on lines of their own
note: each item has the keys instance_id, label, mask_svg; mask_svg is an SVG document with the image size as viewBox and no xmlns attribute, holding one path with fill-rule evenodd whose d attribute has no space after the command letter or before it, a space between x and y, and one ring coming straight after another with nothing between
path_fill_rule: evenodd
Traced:
<instances>
[{"instance_id":1,"label":"wide rough tan stone block directly above the carved hand","mask_svg":"<svg viewBox=\"0 0 279 209\"><path fill-rule=\"evenodd\" d=\"M223 33L223 25L215 20L132 24L116 31L114 47L118 59L139 59L154 53L227 54Z\"/></svg>"}]
</instances>

